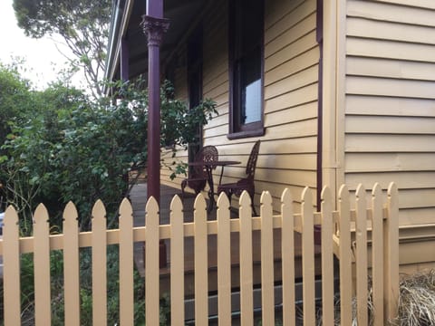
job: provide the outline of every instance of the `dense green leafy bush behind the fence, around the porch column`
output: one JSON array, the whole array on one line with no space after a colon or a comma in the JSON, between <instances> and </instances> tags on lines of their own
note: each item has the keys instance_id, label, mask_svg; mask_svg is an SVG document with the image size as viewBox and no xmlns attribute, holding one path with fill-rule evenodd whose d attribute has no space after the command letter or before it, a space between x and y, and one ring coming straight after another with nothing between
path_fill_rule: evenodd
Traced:
<instances>
[{"instance_id":1,"label":"dense green leafy bush behind the fence, around the porch column","mask_svg":"<svg viewBox=\"0 0 435 326\"><path fill-rule=\"evenodd\" d=\"M51 224L62 225L63 206L73 201L87 230L93 203L102 199L109 226L117 224L128 173L147 159L148 92L141 80L111 87L116 90L112 97L90 101L81 91L52 84L31 97L43 109L27 120L9 121L12 132L2 147L0 177L7 202L24 216L23 234L30 234L39 202L49 208ZM188 110L186 103L169 98L171 91L165 83L161 144L186 146L216 111L215 104L206 101Z\"/></svg>"}]
</instances>

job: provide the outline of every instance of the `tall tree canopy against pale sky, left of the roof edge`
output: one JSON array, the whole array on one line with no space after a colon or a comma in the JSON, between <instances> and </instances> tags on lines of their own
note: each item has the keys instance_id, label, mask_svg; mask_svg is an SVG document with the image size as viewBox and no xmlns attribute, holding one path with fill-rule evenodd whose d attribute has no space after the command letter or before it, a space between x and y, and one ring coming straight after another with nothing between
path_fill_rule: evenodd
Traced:
<instances>
[{"instance_id":1,"label":"tall tree canopy against pale sky, left of the roof edge","mask_svg":"<svg viewBox=\"0 0 435 326\"><path fill-rule=\"evenodd\" d=\"M58 34L72 50L68 58L82 68L91 91L102 95L99 81L105 67L105 50L111 18L111 0L14 0L18 26L34 38Z\"/></svg>"}]
</instances>

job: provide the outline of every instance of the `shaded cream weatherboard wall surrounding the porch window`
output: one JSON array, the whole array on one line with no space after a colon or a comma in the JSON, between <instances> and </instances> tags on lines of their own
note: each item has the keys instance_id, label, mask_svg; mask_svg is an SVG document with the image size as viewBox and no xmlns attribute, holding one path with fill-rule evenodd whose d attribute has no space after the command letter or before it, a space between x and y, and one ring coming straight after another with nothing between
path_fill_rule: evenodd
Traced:
<instances>
[{"instance_id":1,"label":"shaded cream weatherboard wall surrounding the porch window","mask_svg":"<svg viewBox=\"0 0 435 326\"><path fill-rule=\"evenodd\" d=\"M256 169L256 194L268 190L277 211L285 187L290 188L295 198L301 197L305 186L314 190L316 187L319 47L315 40L315 0L265 3L266 133L259 138L262 143ZM242 161L239 167L225 168L223 182L234 182L244 176L249 152L258 138L227 139L227 11L227 1L221 1L210 7L203 19L203 97L216 101L219 112L204 128L203 136L204 145L215 145L220 158ZM176 87L183 88L186 81L186 76L178 78ZM186 159L185 152L181 158ZM218 178L219 168L216 173ZM179 187L181 178L172 182L167 176L163 169L162 182ZM258 204L259 196L255 201Z\"/></svg>"}]
</instances>

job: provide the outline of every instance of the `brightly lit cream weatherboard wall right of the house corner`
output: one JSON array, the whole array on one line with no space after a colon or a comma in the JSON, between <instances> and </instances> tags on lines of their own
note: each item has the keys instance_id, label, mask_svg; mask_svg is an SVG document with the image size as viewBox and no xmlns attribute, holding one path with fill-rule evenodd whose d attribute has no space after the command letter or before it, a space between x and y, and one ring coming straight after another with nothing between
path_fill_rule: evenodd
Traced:
<instances>
[{"instance_id":1,"label":"brightly lit cream weatherboard wall right of the house corner","mask_svg":"<svg viewBox=\"0 0 435 326\"><path fill-rule=\"evenodd\" d=\"M347 1L344 182L400 189L401 225L435 220L435 1Z\"/></svg>"}]
</instances>

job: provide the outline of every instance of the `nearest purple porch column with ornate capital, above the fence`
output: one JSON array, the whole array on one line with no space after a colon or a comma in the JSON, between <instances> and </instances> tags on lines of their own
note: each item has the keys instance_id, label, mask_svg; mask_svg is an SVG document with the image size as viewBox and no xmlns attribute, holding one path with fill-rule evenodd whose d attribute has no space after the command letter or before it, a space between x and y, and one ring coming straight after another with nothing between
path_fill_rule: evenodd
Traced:
<instances>
[{"instance_id":1,"label":"nearest purple porch column with ornate capital, above the fence","mask_svg":"<svg viewBox=\"0 0 435 326\"><path fill-rule=\"evenodd\" d=\"M160 204L160 43L169 28L163 17L163 1L148 0L147 14L142 16L144 34L148 37L148 198Z\"/></svg>"}]
</instances>

